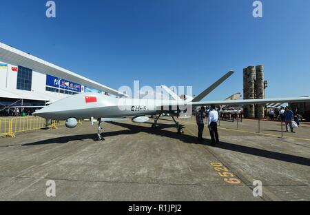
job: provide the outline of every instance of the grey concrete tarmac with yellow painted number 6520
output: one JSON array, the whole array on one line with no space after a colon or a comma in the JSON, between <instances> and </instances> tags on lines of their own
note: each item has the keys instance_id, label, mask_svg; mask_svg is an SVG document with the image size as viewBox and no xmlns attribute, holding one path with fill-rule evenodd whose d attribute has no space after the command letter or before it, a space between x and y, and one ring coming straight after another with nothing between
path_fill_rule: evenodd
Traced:
<instances>
[{"instance_id":1,"label":"grey concrete tarmac with yellow painted number 6520","mask_svg":"<svg viewBox=\"0 0 310 215\"><path fill-rule=\"evenodd\" d=\"M0 139L0 201L309 201L310 125L221 121L220 145L196 140L194 119L39 130ZM56 197L46 196L48 180ZM262 196L253 195L255 180ZM227 182L228 181L228 182ZM230 183L229 183L230 182Z\"/></svg>"}]
</instances>

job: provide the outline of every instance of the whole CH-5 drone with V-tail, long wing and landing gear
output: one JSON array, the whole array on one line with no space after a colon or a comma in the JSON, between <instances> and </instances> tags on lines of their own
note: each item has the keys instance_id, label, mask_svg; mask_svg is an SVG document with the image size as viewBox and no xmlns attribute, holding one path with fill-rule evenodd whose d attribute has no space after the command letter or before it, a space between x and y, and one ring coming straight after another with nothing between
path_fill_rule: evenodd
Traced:
<instances>
[{"instance_id":1,"label":"whole CH-5 drone with V-tail, long wing and landing gear","mask_svg":"<svg viewBox=\"0 0 310 215\"><path fill-rule=\"evenodd\" d=\"M34 116L41 116L45 119L65 120L68 128L76 127L79 119L98 119L98 136L96 141L104 140L101 131L101 123L103 121L119 121L125 117L132 117L135 123L145 123L149 121L148 116L158 115L154 119L152 127L156 127L156 123L162 114L172 116L178 133L182 133L183 129L174 119L181 111L189 111L192 114L192 107L202 105L248 105L248 104L266 104L266 103L286 103L286 102L308 102L309 97L296 97L285 99L249 99L249 100L230 100L230 101L201 101L207 94L213 91L218 85L223 83L233 74L233 71L225 74L221 79L200 93L195 98L191 96L182 96L180 98L169 88L162 86L173 98L163 99L128 99L125 96L116 98L96 93L81 93L68 96L65 99L56 101L37 112ZM119 94L122 94L119 92Z\"/></svg>"}]
</instances>

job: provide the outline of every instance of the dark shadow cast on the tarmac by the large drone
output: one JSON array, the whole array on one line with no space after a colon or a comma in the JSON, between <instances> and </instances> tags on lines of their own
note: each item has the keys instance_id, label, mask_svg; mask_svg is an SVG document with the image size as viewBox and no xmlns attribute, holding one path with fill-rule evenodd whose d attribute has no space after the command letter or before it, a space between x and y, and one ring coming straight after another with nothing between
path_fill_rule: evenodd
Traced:
<instances>
[{"instance_id":1,"label":"dark shadow cast on the tarmac by the large drone","mask_svg":"<svg viewBox=\"0 0 310 215\"><path fill-rule=\"evenodd\" d=\"M139 125L127 124L127 123L112 122L110 124L125 127L128 130L121 130L121 131L115 131L115 132L104 132L103 133L104 137L124 135L124 134L138 134L139 132L145 132L145 133L154 134L158 136L165 136L165 137L172 138L172 139L178 139L180 141L183 141L184 143L199 143L196 136L192 136L188 134L177 134L176 132L162 130L163 128L175 127L175 125L167 125L167 124L158 123L159 127L156 129L153 129L151 127L144 127L144 126L139 126ZM53 144L53 143L68 143L70 141L84 141L86 139L94 139L94 136L95 134L62 136L62 137L57 137L54 139L37 141L34 143L26 143L26 144L23 144L23 146L43 145L43 144ZM200 144L209 145L210 143L211 141L205 140L203 141L203 143L200 143ZM261 150L258 148L249 147L245 145L236 145L234 143L225 143L225 142L220 142L220 144L216 145L216 147L223 149L223 150L230 150L234 152L240 152L243 154L251 154L254 156L270 158L270 159L274 159L278 161L285 161L289 163L296 163L300 165L310 166L310 158L294 156L291 154L283 154L280 152L272 152L272 151Z\"/></svg>"}]
</instances>

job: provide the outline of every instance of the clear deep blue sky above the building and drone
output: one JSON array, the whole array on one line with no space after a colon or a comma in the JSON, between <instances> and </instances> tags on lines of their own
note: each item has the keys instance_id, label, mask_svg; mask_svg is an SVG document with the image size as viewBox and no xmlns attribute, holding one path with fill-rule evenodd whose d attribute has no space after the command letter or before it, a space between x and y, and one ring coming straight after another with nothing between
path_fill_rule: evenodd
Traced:
<instances>
[{"instance_id":1,"label":"clear deep blue sky above the building and drone","mask_svg":"<svg viewBox=\"0 0 310 215\"><path fill-rule=\"evenodd\" d=\"M310 1L1 0L0 41L118 89L192 85L236 74L208 100L242 92L242 68L265 65L268 97L310 94Z\"/></svg>"}]
</instances>

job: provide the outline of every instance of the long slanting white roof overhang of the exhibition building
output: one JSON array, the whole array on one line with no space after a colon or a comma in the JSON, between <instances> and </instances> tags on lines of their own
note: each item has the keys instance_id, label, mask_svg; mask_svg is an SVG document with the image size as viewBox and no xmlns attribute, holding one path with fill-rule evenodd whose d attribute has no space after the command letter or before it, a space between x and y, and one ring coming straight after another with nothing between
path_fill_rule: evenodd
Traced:
<instances>
[{"instance_id":1,"label":"long slanting white roof overhang of the exhibition building","mask_svg":"<svg viewBox=\"0 0 310 215\"><path fill-rule=\"evenodd\" d=\"M101 83L87 79L79 74L65 70L64 68L61 68L47 61L43 61L42 59L22 52L21 50L17 50L16 48L12 48L4 43L0 43L0 60L13 65L21 65L36 72L50 74L61 79L79 83L89 88L102 90L103 92L107 92L109 94L125 96L125 94L122 92L118 92L117 90L113 90L112 88L102 85Z\"/></svg>"}]
</instances>

